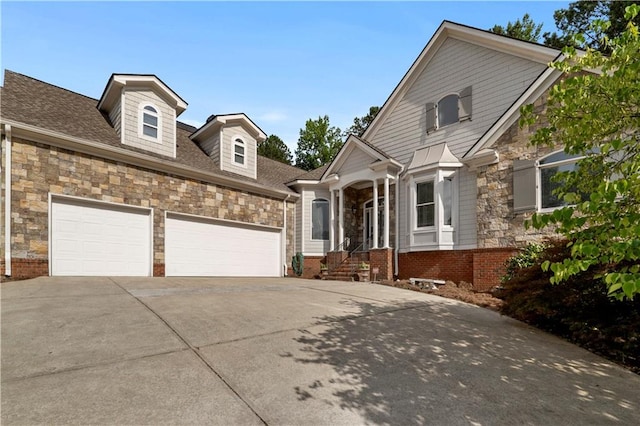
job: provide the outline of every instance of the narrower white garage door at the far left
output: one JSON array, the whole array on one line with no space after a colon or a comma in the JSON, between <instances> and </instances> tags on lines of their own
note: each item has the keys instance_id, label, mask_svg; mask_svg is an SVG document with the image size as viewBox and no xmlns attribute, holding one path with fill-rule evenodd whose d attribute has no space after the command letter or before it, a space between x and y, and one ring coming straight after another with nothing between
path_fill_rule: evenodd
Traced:
<instances>
[{"instance_id":1,"label":"narrower white garage door at the far left","mask_svg":"<svg viewBox=\"0 0 640 426\"><path fill-rule=\"evenodd\" d=\"M151 275L151 211L53 198L51 275Z\"/></svg>"}]
</instances>

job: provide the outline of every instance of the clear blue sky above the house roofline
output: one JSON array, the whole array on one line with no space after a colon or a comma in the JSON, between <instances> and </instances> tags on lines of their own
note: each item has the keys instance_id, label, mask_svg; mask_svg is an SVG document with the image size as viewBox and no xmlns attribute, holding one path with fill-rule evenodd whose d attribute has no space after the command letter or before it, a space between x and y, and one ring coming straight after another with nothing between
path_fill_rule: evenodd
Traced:
<instances>
[{"instance_id":1,"label":"clear blue sky above the house roofline","mask_svg":"<svg viewBox=\"0 0 640 426\"><path fill-rule=\"evenodd\" d=\"M112 73L156 74L179 120L244 112L295 150L309 118L345 129L382 105L443 20L488 29L568 2L6 2L2 71L99 98Z\"/></svg>"}]
</instances>

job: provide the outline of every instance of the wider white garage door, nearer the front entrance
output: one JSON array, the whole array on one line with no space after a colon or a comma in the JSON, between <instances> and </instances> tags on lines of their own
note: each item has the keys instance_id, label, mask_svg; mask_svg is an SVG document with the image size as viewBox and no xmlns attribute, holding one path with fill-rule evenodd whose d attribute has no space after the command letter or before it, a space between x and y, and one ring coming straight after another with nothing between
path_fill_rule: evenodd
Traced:
<instances>
[{"instance_id":1,"label":"wider white garage door, nearer the front entrance","mask_svg":"<svg viewBox=\"0 0 640 426\"><path fill-rule=\"evenodd\" d=\"M167 276L278 277L280 230L168 214Z\"/></svg>"}]
</instances>

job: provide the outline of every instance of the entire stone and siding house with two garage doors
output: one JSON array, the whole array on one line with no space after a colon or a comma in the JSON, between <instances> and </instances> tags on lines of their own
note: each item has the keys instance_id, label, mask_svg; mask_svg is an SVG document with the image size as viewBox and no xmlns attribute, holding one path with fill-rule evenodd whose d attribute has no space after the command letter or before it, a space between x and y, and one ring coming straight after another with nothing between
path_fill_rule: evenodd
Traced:
<instances>
[{"instance_id":1,"label":"entire stone and siding house with two garage doors","mask_svg":"<svg viewBox=\"0 0 640 426\"><path fill-rule=\"evenodd\" d=\"M377 277L499 281L558 205L562 151L528 145L559 51L443 22L361 136L304 172L257 154L242 113L200 128L155 75L114 74L100 99L5 71L3 275L304 275L351 253ZM345 263L348 260L345 261Z\"/></svg>"}]
</instances>

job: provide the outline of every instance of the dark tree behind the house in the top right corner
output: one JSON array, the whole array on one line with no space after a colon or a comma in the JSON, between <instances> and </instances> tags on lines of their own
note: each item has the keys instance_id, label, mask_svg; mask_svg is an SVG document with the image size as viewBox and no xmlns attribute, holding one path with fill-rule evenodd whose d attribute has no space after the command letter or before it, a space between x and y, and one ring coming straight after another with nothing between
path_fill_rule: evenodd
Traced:
<instances>
[{"instance_id":1,"label":"dark tree behind the house in the top right corner","mask_svg":"<svg viewBox=\"0 0 640 426\"><path fill-rule=\"evenodd\" d=\"M591 47L606 52L606 43L601 37L609 39L619 36L626 27L624 18L625 8L632 1L576 1L570 3L566 9L556 10L553 18L560 33L545 33L544 44L561 49L564 46L574 45L579 48ZM593 26L596 22L608 21L609 27L596 30ZM640 16L634 18L636 25L640 24ZM582 41L576 42L573 37L582 34Z\"/></svg>"}]
</instances>

